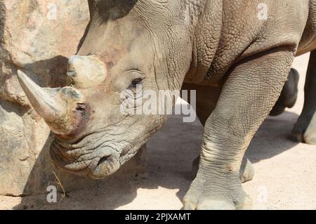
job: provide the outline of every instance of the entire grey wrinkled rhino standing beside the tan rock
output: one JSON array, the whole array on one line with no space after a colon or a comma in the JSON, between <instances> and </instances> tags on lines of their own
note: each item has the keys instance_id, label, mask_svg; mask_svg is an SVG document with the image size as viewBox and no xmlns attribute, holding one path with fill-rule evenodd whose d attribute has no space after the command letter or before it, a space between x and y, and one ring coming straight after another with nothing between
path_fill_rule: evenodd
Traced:
<instances>
[{"instance_id":1,"label":"entire grey wrinkled rhino standing beside the tan rock","mask_svg":"<svg viewBox=\"0 0 316 224\"><path fill-rule=\"evenodd\" d=\"M280 93L277 105L293 103L295 85L282 88L294 57L316 48L316 0L265 0L268 20L258 18L261 2L89 1L90 29L70 59L70 87L39 88L18 75L56 133L55 164L91 178L114 173L166 121L164 115L122 114L121 91L135 91L136 84L195 89L204 136L184 209L249 209L239 180L253 175L245 159L239 177L244 152ZM310 144L316 144L315 60L313 51L294 128L295 138Z\"/></svg>"}]
</instances>

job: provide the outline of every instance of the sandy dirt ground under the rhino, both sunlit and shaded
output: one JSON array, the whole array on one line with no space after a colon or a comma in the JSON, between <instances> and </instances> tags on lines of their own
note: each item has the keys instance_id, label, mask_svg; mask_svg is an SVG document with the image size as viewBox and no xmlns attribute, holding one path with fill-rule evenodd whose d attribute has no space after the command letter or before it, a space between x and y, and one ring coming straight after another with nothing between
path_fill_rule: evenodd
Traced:
<instances>
[{"instance_id":1,"label":"sandy dirt ground under the rhino, both sunlit and shaded","mask_svg":"<svg viewBox=\"0 0 316 224\"><path fill-rule=\"evenodd\" d=\"M316 209L316 146L294 143L290 136L303 107L307 62L308 55L294 62L301 74L298 103L279 117L269 117L247 152L256 173L243 186L253 209ZM46 195L0 197L0 209L180 209L201 137L198 121L184 124L173 116L147 144L147 178L108 178L55 204L46 202Z\"/></svg>"}]
</instances>

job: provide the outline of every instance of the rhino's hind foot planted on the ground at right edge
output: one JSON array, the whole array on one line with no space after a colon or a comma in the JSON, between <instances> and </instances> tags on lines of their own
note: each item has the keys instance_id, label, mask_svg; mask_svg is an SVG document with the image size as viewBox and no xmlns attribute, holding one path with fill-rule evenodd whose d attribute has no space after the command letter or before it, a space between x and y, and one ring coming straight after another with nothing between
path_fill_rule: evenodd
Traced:
<instances>
[{"instance_id":1,"label":"rhino's hind foot planted on the ground at right edge","mask_svg":"<svg viewBox=\"0 0 316 224\"><path fill-rule=\"evenodd\" d=\"M312 116L304 116L298 118L292 131L293 139L297 142L316 145L316 113Z\"/></svg>"}]
</instances>

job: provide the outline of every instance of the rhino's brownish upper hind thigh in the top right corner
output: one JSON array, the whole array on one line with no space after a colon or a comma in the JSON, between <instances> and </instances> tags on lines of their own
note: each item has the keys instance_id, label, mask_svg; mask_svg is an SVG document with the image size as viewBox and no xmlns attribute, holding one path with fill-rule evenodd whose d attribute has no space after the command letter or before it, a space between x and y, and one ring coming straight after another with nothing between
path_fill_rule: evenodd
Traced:
<instances>
[{"instance_id":1,"label":"rhino's brownish upper hind thigh in the top right corner","mask_svg":"<svg viewBox=\"0 0 316 224\"><path fill-rule=\"evenodd\" d=\"M303 37L298 48L298 55L316 49L316 0L310 0L308 22L303 32Z\"/></svg>"}]
</instances>

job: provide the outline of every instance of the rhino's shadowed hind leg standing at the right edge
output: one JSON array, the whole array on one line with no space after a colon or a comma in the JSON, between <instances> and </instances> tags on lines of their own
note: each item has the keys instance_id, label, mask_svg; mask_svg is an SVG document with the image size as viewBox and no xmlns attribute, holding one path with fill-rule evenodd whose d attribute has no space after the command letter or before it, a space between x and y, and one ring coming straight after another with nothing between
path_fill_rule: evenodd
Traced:
<instances>
[{"instance_id":1,"label":"rhino's shadowed hind leg standing at the right edge","mask_svg":"<svg viewBox=\"0 0 316 224\"><path fill-rule=\"evenodd\" d=\"M294 140L316 145L316 51L310 54L303 112L292 131Z\"/></svg>"}]
</instances>

